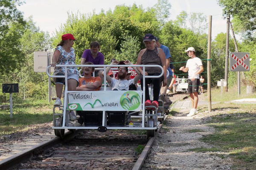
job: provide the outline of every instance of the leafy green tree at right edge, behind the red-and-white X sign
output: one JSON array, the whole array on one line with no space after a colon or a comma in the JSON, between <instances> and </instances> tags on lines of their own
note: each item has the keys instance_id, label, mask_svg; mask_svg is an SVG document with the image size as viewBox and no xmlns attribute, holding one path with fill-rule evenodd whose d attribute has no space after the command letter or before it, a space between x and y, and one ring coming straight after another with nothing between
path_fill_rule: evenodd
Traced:
<instances>
[{"instance_id":1,"label":"leafy green tree at right edge, behind the red-and-white X sign","mask_svg":"<svg viewBox=\"0 0 256 170\"><path fill-rule=\"evenodd\" d=\"M250 52L250 71L246 71L243 80L247 85L256 85L256 1L255 0L218 0L224 7L224 14L231 15L234 31L240 34L243 42L239 52Z\"/></svg>"}]
</instances>

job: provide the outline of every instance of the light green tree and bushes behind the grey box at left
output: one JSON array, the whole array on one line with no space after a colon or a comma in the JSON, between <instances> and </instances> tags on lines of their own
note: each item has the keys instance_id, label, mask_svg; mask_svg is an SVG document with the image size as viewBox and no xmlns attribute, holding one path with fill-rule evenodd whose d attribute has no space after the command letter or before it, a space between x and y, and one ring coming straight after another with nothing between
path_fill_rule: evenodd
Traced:
<instances>
[{"instance_id":1,"label":"light green tree and bushes behind the grey box at left","mask_svg":"<svg viewBox=\"0 0 256 170\"><path fill-rule=\"evenodd\" d=\"M24 97L32 97L34 99L44 99L47 96L47 81L46 73L34 72L34 51L44 51L50 47L50 38L48 32L40 31L32 20L32 17L21 28L10 27L10 30L18 33L22 31L19 38L19 52L22 55L17 64L19 68L9 71L7 74L0 76L0 81L5 83L19 82L20 93L15 94L19 99ZM14 48L11 48L14 50ZM10 50L11 50L10 49ZM21 49L21 51L20 51Z\"/></svg>"}]
</instances>

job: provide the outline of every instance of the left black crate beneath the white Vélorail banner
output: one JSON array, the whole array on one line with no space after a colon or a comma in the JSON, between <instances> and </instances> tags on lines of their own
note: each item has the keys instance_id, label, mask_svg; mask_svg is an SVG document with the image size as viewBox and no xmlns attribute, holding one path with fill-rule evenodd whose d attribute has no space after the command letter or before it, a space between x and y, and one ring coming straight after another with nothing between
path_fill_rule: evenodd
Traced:
<instances>
[{"instance_id":1,"label":"left black crate beneath the white V\u00e9lorail banner","mask_svg":"<svg viewBox=\"0 0 256 170\"><path fill-rule=\"evenodd\" d=\"M84 119L84 126L102 126L102 111L76 111Z\"/></svg>"}]
</instances>

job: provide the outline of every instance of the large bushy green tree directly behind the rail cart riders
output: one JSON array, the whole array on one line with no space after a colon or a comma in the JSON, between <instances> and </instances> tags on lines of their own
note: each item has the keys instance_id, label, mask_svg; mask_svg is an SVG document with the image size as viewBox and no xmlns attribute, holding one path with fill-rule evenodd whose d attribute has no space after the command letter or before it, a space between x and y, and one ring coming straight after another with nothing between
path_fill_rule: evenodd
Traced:
<instances>
[{"instance_id":1,"label":"large bushy green tree directly behind the rail cart riders","mask_svg":"<svg viewBox=\"0 0 256 170\"><path fill-rule=\"evenodd\" d=\"M52 47L61 40L61 35L70 33L76 37L73 48L76 51L76 63L79 64L85 49L90 47L90 42L100 43L100 52L105 55L105 63L126 51L123 45L128 43L126 35L136 38L139 47L145 48L142 43L147 33L158 34L159 22L154 10L143 9L142 6L119 5L113 12L111 10L99 14L69 14L67 23L61 26L53 38ZM119 56L119 57L122 57Z\"/></svg>"}]
</instances>

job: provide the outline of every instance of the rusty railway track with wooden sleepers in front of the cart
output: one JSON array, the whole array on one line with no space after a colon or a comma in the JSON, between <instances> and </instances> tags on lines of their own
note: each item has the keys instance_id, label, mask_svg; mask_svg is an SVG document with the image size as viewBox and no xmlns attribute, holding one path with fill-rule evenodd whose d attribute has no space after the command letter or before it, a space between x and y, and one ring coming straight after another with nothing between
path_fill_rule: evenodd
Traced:
<instances>
[{"instance_id":1,"label":"rusty railway track with wooden sleepers in front of the cart","mask_svg":"<svg viewBox=\"0 0 256 170\"><path fill-rule=\"evenodd\" d=\"M141 130L67 132L0 161L0 170L139 170L154 139Z\"/></svg>"}]
</instances>

